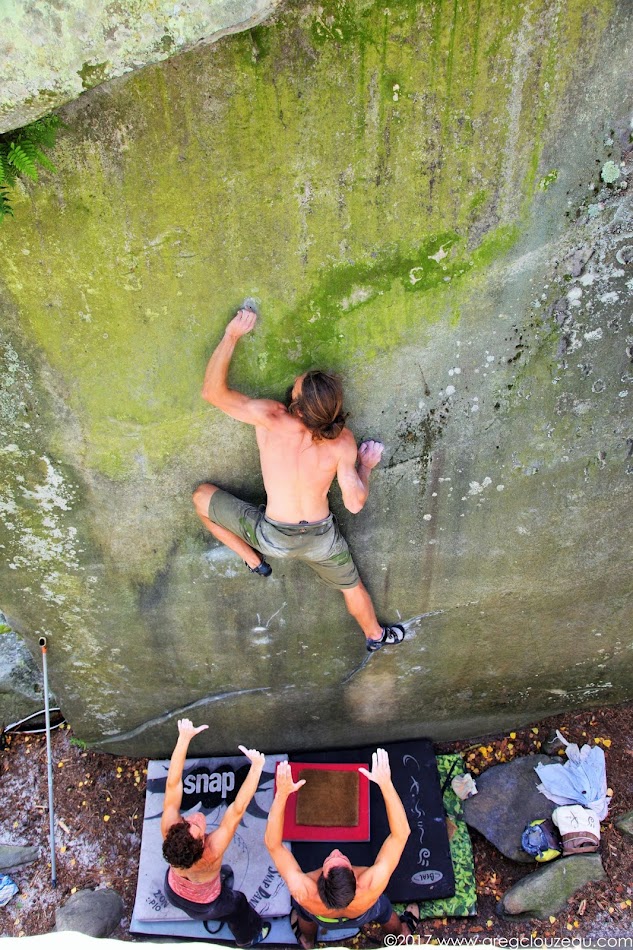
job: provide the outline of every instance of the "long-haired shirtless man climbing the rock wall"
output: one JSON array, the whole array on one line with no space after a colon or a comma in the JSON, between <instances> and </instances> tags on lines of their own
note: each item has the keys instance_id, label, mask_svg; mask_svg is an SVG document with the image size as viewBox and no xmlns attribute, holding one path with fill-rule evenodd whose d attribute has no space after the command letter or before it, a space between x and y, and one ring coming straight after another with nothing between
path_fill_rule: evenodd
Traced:
<instances>
[{"instance_id":1,"label":"long-haired shirtless man climbing the rock wall","mask_svg":"<svg viewBox=\"0 0 633 950\"><path fill-rule=\"evenodd\" d=\"M255 313L242 309L230 321L209 360L202 396L233 419L255 426L266 508L205 484L193 495L198 516L252 573L263 577L272 573L267 556L307 562L329 587L341 591L370 653L385 644L401 643L402 625L378 623L327 497L336 476L343 504L357 514L367 501L369 476L383 446L370 440L357 450L345 426L343 389L333 373L310 370L298 376L288 391L287 406L229 389L227 376L235 345L256 320Z\"/></svg>"}]
</instances>

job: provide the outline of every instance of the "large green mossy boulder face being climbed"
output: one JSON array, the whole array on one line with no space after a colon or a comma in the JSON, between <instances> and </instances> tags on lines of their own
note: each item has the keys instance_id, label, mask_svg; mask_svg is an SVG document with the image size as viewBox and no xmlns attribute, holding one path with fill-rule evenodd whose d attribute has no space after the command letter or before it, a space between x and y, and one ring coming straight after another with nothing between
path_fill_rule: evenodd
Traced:
<instances>
[{"instance_id":1,"label":"large green mossy boulder face being climbed","mask_svg":"<svg viewBox=\"0 0 633 950\"><path fill-rule=\"evenodd\" d=\"M208 751L345 745L630 697L633 225L599 181L629 17L289 6L65 110L0 230L0 607L81 738L163 755L187 710ZM421 618L369 663L336 592L250 576L193 512L203 481L263 501L253 431L199 395L247 295L234 385L333 367L386 444L364 511L332 498L381 619Z\"/></svg>"}]
</instances>

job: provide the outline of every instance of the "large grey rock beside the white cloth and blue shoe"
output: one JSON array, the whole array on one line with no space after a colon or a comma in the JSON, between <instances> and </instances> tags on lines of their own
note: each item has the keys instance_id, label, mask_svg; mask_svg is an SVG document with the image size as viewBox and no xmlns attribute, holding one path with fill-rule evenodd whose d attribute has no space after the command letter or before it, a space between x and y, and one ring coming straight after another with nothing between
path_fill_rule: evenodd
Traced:
<instances>
[{"instance_id":1,"label":"large grey rock beside the white cloth and blue shoe","mask_svg":"<svg viewBox=\"0 0 633 950\"><path fill-rule=\"evenodd\" d=\"M534 767L558 761L558 756L527 755L487 769L477 778L478 794L463 803L466 822L507 858L533 863L521 847L521 835L528 822L549 818L556 807L537 790Z\"/></svg>"}]
</instances>

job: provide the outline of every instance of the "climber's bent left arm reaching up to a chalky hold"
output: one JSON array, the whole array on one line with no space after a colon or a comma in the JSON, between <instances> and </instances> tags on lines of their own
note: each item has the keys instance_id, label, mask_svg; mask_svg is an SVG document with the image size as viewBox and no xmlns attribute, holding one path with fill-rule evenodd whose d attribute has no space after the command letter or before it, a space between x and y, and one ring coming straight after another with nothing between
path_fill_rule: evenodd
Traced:
<instances>
[{"instance_id":1,"label":"climber's bent left arm reaching up to a chalky hold","mask_svg":"<svg viewBox=\"0 0 633 950\"><path fill-rule=\"evenodd\" d=\"M250 333L256 320L257 314L251 310L239 310L233 317L207 364L202 398L239 422L266 426L279 412L281 403L272 399L251 399L228 385L229 366L237 341Z\"/></svg>"}]
</instances>

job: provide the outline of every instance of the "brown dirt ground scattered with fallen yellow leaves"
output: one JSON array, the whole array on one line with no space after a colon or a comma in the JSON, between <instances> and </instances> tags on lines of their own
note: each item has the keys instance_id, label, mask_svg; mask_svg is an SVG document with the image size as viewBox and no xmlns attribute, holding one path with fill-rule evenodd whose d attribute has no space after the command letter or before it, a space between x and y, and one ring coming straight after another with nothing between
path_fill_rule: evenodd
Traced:
<instances>
[{"instance_id":1,"label":"brown dirt ground scattered with fallen yellow leaves","mask_svg":"<svg viewBox=\"0 0 633 950\"><path fill-rule=\"evenodd\" d=\"M424 921L420 934L437 943L472 943L492 939L497 946L517 946L509 938L532 938L532 946L591 946L598 938L633 936L633 838L614 827L614 819L633 809L633 703L555 716L516 733L442 743L438 752L461 752L475 777L486 768L539 752L554 729L569 741L602 745L607 780L613 790L609 816L602 825L601 856L607 880L574 895L555 918L507 920L496 913L498 900L526 873L527 865L505 858L485 838L471 831L477 880L478 914L469 918ZM44 736L6 736L0 753L0 841L40 846L39 863L11 872L20 891L3 908L3 937L48 933L55 909L84 888L111 887L122 897L125 916L112 934L134 940L130 920L136 892L145 799L146 759L128 759L82 748L69 726L52 733L56 826L57 888L50 886L48 791ZM377 932L375 933L378 936ZM500 942L506 938L507 943ZM540 938L540 939L536 939ZM420 938L420 941L422 939ZM542 941L542 942L541 942ZM435 942L435 940L434 940ZM372 947L367 937L351 947ZM596 946L616 947L609 940ZM620 946L631 946L621 941ZM329 946L332 946L331 944Z\"/></svg>"}]
</instances>

